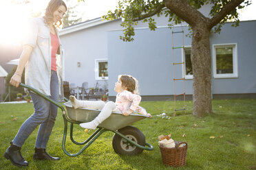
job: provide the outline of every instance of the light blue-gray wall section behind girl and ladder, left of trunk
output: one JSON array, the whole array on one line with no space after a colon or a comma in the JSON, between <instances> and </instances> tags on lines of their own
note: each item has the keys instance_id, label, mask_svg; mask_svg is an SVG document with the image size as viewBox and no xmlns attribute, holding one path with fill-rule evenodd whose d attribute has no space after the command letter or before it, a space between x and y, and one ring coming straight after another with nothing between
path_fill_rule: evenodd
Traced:
<instances>
[{"instance_id":1,"label":"light blue-gray wall section behind girl and ladder, left of trunk","mask_svg":"<svg viewBox=\"0 0 256 170\"><path fill-rule=\"evenodd\" d=\"M180 31L181 27L175 27ZM188 33L184 27L185 34ZM140 84L140 95L164 96L173 94L172 39L169 27L160 27L155 32L150 29L136 29L133 42L122 42L117 37L122 31L108 34L109 56L109 95L116 93L110 87L119 74L136 77ZM176 36L176 35L175 35ZM185 46L191 39L184 36ZM175 47L182 46L182 38L177 35ZM182 60L182 50L175 49L176 62ZM175 66L175 77L182 77L182 67ZM183 82L175 84L176 93L182 93ZM180 88L182 86L182 88ZM186 81L186 93L192 94L192 81Z\"/></svg>"}]
</instances>

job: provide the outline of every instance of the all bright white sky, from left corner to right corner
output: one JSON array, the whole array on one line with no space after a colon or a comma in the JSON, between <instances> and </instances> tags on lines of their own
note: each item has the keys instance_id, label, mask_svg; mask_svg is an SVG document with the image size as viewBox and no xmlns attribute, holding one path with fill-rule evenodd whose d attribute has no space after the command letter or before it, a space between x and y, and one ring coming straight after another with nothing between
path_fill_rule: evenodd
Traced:
<instances>
[{"instance_id":1,"label":"all bright white sky, from left corner to right corner","mask_svg":"<svg viewBox=\"0 0 256 170\"><path fill-rule=\"evenodd\" d=\"M24 3L30 1L30 3ZM14 2L21 2L19 4ZM68 7L76 6L77 15L82 21L95 19L108 10L116 9L118 0L78 0L65 1ZM48 1L46 0L0 0L0 44L15 45L21 42L22 32L25 30L25 21L31 14L43 14ZM240 13L240 21L256 20L256 1L244 8Z\"/></svg>"}]
</instances>

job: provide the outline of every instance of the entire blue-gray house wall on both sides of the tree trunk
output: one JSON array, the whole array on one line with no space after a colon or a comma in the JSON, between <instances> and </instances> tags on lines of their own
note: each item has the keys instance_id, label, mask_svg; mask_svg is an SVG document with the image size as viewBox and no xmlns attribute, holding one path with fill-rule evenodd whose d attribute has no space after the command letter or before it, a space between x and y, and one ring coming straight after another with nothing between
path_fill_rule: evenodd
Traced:
<instances>
[{"instance_id":1,"label":"entire blue-gray house wall on both sides of the tree trunk","mask_svg":"<svg viewBox=\"0 0 256 170\"><path fill-rule=\"evenodd\" d=\"M256 21L243 21L239 27L231 27L231 23L226 23L220 34L211 35L212 52L213 44L237 43L238 63L237 78L220 79L212 75L213 98L227 94L253 94L255 97L255 27ZM187 27L184 28L184 32L188 33ZM160 27L155 32L149 29L136 29L135 33L133 42L122 42L118 38L122 31L108 32L109 95L116 95L111 85L114 86L117 76L130 74L139 80L141 95L171 98L173 95L171 29ZM174 43L175 47L182 45L181 34L175 35ZM191 46L191 39L185 37L184 43L185 46ZM182 49L175 49L176 57L182 58ZM182 77L181 67L175 66L176 75L175 78ZM175 88L176 94L182 93L183 84L175 84ZM187 95L192 95L192 88L192 80L186 80Z\"/></svg>"}]
</instances>

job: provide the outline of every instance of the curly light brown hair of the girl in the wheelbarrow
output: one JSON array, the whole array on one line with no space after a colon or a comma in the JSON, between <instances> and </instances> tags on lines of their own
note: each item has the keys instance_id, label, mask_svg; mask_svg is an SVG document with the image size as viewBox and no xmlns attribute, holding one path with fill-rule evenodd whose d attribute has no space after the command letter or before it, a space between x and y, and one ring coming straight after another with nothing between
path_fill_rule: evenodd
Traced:
<instances>
[{"instance_id":1,"label":"curly light brown hair of the girl in the wheelbarrow","mask_svg":"<svg viewBox=\"0 0 256 170\"><path fill-rule=\"evenodd\" d=\"M118 75L118 80L122 82L122 87L126 87L128 91L139 95L138 80L131 75Z\"/></svg>"}]
</instances>

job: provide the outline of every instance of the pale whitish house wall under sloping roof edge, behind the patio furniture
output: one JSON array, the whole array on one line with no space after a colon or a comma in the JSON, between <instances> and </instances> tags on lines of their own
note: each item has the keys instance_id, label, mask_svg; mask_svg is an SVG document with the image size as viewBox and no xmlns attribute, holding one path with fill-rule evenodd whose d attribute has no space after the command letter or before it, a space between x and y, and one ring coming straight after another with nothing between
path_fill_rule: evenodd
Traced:
<instances>
[{"instance_id":1,"label":"pale whitish house wall under sloping roof edge, behind the patio furniture","mask_svg":"<svg viewBox=\"0 0 256 170\"><path fill-rule=\"evenodd\" d=\"M96 85L95 59L107 59L107 31L120 29L120 20L61 35L64 49L64 80L81 86ZM81 63L78 67L77 62ZM103 86L106 81L99 80Z\"/></svg>"}]
</instances>

